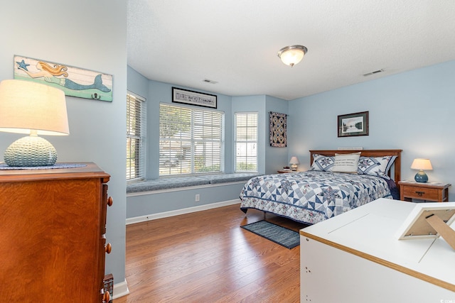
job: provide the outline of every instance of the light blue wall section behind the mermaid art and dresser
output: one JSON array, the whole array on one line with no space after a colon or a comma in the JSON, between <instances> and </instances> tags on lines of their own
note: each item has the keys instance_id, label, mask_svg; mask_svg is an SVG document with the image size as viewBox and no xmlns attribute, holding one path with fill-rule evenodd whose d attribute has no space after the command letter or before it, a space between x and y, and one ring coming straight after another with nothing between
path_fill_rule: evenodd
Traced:
<instances>
[{"instance_id":1,"label":"light blue wall section behind the mermaid art and dresser","mask_svg":"<svg viewBox=\"0 0 455 303\"><path fill-rule=\"evenodd\" d=\"M0 27L0 80L13 78L14 55L114 76L112 102L67 97L70 136L46 139L57 149L58 162L96 162L111 175L114 205L107 210L107 241L112 253L106 257L106 272L114 275L114 283L123 282L127 1L4 1ZM0 133L0 153L20 137ZM33 203L39 201L31 202L31 207Z\"/></svg>"}]
</instances>

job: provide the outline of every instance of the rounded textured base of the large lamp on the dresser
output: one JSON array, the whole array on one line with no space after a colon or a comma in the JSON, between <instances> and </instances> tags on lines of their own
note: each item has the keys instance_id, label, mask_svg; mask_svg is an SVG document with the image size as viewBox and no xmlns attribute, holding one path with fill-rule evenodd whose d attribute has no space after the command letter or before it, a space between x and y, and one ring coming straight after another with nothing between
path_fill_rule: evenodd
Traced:
<instances>
[{"instance_id":1,"label":"rounded textured base of the large lamp on the dresser","mask_svg":"<svg viewBox=\"0 0 455 303\"><path fill-rule=\"evenodd\" d=\"M6 148L4 160L13 167L50 166L57 161L57 150L45 138L26 136Z\"/></svg>"}]
</instances>

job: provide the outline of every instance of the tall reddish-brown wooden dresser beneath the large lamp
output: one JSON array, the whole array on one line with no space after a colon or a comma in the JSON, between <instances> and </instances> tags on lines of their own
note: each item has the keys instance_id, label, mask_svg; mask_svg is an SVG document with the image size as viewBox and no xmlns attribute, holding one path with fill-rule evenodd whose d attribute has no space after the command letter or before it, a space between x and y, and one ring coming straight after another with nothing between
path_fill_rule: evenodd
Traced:
<instances>
[{"instance_id":1,"label":"tall reddish-brown wooden dresser beneath the large lamp","mask_svg":"<svg viewBox=\"0 0 455 303\"><path fill-rule=\"evenodd\" d=\"M109 175L84 167L0 170L0 302L107 302Z\"/></svg>"}]
</instances>

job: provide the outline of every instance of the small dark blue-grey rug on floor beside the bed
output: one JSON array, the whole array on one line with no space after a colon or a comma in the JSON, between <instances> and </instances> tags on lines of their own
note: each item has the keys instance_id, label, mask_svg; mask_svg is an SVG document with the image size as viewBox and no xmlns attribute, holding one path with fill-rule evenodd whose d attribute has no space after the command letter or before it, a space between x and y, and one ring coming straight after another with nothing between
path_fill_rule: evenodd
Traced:
<instances>
[{"instance_id":1,"label":"small dark blue-grey rug on floor beside the bed","mask_svg":"<svg viewBox=\"0 0 455 303\"><path fill-rule=\"evenodd\" d=\"M300 236L298 232L292 231L291 229L283 226L278 226L277 224L273 224L268 221L257 221L240 227L284 246L285 248L291 249L299 246L300 244Z\"/></svg>"}]
</instances>

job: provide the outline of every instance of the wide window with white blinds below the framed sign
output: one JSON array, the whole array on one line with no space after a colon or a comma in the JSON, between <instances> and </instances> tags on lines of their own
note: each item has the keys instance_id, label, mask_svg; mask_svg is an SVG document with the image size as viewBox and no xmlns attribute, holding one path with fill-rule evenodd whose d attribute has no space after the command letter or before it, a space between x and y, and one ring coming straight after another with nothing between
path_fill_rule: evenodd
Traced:
<instances>
[{"instance_id":1,"label":"wide window with white blinds below the framed sign","mask_svg":"<svg viewBox=\"0 0 455 303\"><path fill-rule=\"evenodd\" d=\"M221 111L160 104L159 175L222 172Z\"/></svg>"}]
</instances>

